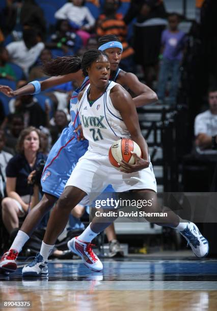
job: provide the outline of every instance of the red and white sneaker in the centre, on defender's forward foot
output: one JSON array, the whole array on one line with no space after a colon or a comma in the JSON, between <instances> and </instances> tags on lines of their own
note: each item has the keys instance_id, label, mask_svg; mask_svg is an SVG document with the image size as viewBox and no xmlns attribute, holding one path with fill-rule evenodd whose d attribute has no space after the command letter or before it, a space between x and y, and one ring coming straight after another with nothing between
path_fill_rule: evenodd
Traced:
<instances>
[{"instance_id":1,"label":"red and white sneaker in the centre, on defender's forward foot","mask_svg":"<svg viewBox=\"0 0 217 311\"><path fill-rule=\"evenodd\" d=\"M103 265L91 248L93 244L82 242L76 236L68 241L67 245L71 252L82 258L82 261L89 269L95 272L102 270Z\"/></svg>"}]
</instances>

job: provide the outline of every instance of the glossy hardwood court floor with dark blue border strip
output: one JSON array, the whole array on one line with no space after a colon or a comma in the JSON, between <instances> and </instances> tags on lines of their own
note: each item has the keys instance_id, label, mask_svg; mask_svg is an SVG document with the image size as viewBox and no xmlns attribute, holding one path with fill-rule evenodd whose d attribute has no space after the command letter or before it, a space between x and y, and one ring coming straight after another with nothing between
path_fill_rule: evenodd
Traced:
<instances>
[{"instance_id":1,"label":"glossy hardwood court floor with dark blue border strip","mask_svg":"<svg viewBox=\"0 0 217 311\"><path fill-rule=\"evenodd\" d=\"M46 278L0 276L0 301L32 301L29 310L216 310L216 260L105 260L92 272L80 260L52 261ZM5 310L23 310L7 308ZM26 309L27 310L27 309Z\"/></svg>"}]
</instances>

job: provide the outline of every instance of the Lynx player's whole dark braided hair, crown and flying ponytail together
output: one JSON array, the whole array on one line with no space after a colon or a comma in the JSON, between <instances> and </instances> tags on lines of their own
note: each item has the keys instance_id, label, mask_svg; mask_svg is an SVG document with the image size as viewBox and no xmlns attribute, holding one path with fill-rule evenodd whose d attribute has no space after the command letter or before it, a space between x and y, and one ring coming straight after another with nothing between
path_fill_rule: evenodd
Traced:
<instances>
[{"instance_id":1,"label":"Lynx player's whole dark braided hair, crown and flying ponytail together","mask_svg":"<svg viewBox=\"0 0 217 311\"><path fill-rule=\"evenodd\" d=\"M96 49L85 52L83 59L78 56L57 57L43 64L43 72L48 76L63 76L82 69L84 76L87 77L87 68L101 55L108 58L105 52Z\"/></svg>"}]
</instances>

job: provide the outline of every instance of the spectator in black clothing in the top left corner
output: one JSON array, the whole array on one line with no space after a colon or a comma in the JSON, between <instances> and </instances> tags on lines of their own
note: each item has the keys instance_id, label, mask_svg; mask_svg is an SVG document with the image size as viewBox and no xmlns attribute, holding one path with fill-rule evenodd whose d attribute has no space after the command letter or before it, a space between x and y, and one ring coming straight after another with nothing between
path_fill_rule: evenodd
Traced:
<instances>
[{"instance_id":1,"label":"spectator in black clothing in the top left corner","mask_svg":"<svg viewBox=\"0 0 217 311\"><path fill-rule=\"evenodd\" d=\"M46 34L43 11L34 0L8 0L1 19L5 36L13 32L15 40L22 38L22 30L26 26L38 30L42 35Z\"/></svg>"}]
</instances>

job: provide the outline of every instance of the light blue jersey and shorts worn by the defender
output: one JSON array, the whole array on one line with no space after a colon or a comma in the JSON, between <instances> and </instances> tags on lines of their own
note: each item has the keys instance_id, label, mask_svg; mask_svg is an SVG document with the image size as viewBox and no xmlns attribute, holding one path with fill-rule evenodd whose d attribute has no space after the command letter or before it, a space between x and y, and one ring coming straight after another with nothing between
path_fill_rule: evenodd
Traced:
<instances>
[{"instance_id":1,"label":"light blue jersey and shorts worn by the defender","mask_svg":"<svg viewBox=\"0 0 217 311\"><path fill-rule=\"evenodd\" d=\"M119 72L120 69L114 73L113 80L116 80ZM77 137L79 133L74 133L74 130L80 125L80 118L77 110L77 96L88 84L89 77L85 77L82 86L73 91L70 101L71 122L69 126L63 130L57 142L52 146L41 177L43 192L57 198L63 193L66 182L79 158L88 150L88 140L78 141ZM105 192L107 191L105 190Z\"/></svg>"}]
</instances>

